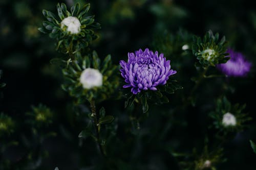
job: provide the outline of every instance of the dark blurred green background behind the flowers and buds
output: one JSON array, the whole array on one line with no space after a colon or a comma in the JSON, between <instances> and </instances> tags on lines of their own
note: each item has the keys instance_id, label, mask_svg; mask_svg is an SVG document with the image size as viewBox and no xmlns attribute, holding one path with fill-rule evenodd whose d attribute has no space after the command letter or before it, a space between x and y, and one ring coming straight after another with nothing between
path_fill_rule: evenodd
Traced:
<instances>
[{"instance_id":1,"label":"dark blurred green background behind the flowers and buds","mask_svg":"<svg viewBox=\"0 0 256 170\"><path fill-rule=\"evenodd\" d=\"M91 48L101 58L111 54L113 62L118 64L119 60L126 60L128 52L150 47L171 60L172 68L178 71L176 79L184 87L170 97L170 104L161 108L160 115L157 107L152 107L148 119L141 125L140 135L129 132L132 126L125 115L129 110L124 110L124 100L100 104L106 113L111 111L118 117L118 137L112 139L109 147L113 155L111 161L116 162L112 169L181 169L173 150L187 153L195 147L201 151L205 136L208 135L209 140L214 138L214 131L208 131L211 122L207 113L215 110L215 101L223 93L219 91L223 82L230 86L225 93L229 101L246 104L245 112L254 119L249 128L225 144L227 161L218 165L218 169L256 168L256 155L249 144L249 139L256 141L256 7L251 1L242 0L1 0L0 70L3 76L0 83L5 82L6 87L1 89L0 112L12 117L15 126L11 135L0 138L0 145L7 140L18 141L2 152L0 161L8 160L5 167L94 169L100 161L93 141L77 137L86 124L81 112L73 110L73 100L61 89L61 70L49 62L63 54L55 51L55 40L37 30L45 20L42 9L57 13L58 2L69 7L76 2L91 4L89 12L101 24L97 31L99 38ZM229 46L252 62L252 69L246 78L209 80L202 87L207 92L201 92L202 99L198 102L202 107L172 114L174 106L182 102L180 96L186 96L191 89L191 76L196 75L193 63L196 60L180 57L182 43L190 42L190 34L202 36L209 29L225 35ZM179 32L185 37L182 41L175 38ZM54 135L37 142L31 133L33 125L26 121L29 117L26 113L33 110L31 105L40 103L49 107L53 116L52 124L40 127L38 134L53 132ZM88 112L86 106L79 109Z\"/></svg>"}]
</instances>

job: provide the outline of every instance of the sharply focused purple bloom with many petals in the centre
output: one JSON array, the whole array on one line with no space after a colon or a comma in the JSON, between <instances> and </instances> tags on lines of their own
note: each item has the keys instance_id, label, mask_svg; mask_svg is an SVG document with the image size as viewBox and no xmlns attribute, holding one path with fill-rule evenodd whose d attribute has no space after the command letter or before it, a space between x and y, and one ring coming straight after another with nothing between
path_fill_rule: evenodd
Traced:
<instances>
[{"instance_id":1,"label":"sharply focused purple bloom with many petals in the centre","mask_svg":"<svg viewBox=\"0 0 256 170\"><path fill-rule=\"evenodd\" d=\"M134 53L128 53L128 62L120 61L121 76L125 79L126 85L123 88L132 87L134 94L141 90L157 90L157 86L166 84L169 76L177 71L170 69L170 60L166 61L163 54L158 56L153 51L141 49Z\"/></svg>"}]
</instances>

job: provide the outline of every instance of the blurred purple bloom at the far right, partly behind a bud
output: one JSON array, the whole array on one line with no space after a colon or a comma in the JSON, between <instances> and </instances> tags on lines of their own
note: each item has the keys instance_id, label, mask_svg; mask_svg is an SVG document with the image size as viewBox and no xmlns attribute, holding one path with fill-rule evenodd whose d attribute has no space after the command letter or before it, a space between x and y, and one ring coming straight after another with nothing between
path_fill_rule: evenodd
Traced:
<instances>
[{"instance_id":1,"label":"blurred purple bloom at the far right, partly behind a bud","mask_svg":"<svg viewBox=\"0 0 256 170\"><path fill-rule=\"evenodd\" d=\"M224 64L218 64L217 68L223 72L223 74L232 77L244 77L248 74L251 68L251 63L245 60L245 57L241 53L234 52L228 48L230 59Z\"/></svg>"}]
</instances>

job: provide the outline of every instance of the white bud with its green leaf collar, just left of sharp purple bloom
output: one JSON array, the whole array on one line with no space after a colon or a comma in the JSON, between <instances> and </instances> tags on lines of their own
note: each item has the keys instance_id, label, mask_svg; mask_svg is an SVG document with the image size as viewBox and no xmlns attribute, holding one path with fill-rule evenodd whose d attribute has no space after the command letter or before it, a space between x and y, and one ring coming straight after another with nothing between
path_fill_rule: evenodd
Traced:
<instances>
[{"instance_id":1,"label":"white bud with its green leaf collar, just left of sharp purple bloom","mask_svg":"<svg viewBox=\"0 0 256 170\"><path fill-rule=\"evenodd\" d=\"M74 62L62 69L66 81L61 87L77 98L78 103L92 99L102 102L118 95L118 69L117 65L112 64L110 55L101 62L95 51L86 56L78 52Z\"/></svg>"}]
</instances>

